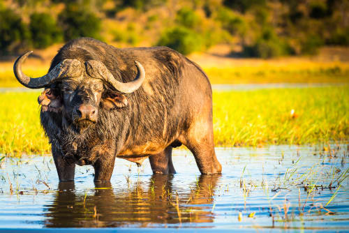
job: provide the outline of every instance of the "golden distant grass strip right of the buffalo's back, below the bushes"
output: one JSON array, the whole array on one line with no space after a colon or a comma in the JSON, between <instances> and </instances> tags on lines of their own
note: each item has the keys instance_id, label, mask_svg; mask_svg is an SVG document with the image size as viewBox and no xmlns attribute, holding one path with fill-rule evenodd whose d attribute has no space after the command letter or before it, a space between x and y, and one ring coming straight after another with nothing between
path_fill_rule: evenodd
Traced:
<instances>
[{"instance_id":1,"label":"golden distant grass strip right of the buffalo's back, below the bushes","mask_svg":"<svg viewBox=\"0 0 349 233\"><path fill-rule=\"evenodd\" d=\"M348 83L349 64L341 62L253 63L205 68L213 84Z\"/></svg>"}]
</instances>

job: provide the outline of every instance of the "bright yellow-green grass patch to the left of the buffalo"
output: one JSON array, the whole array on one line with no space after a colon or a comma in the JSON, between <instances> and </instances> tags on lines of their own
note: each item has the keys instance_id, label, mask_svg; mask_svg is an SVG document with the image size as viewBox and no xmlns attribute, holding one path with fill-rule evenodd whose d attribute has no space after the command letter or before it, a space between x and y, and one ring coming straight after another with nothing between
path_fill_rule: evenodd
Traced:
<instances>
[{"instance_id":1,"label":"bright yellow-green grass patch to the left of the buffalo","mask_svg":"<svg viewBox=\"0 0 349 233\"><path fill-rule=\"evenodd\" d=\"M38 93L0 93L0 153L47 153L50 146L40 127Z\"/></svg>"}]
</instances>

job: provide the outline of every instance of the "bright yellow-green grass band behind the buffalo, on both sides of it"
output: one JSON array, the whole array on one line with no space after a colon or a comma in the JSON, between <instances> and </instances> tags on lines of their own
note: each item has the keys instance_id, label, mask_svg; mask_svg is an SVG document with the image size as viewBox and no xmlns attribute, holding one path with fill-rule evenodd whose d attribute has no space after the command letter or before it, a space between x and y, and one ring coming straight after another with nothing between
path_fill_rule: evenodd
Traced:
<instances>
[{"instance_id":1,"label":"bright yellow-green grass band behind the buffalo, on both sides of it","mask_svg":"<svg viewBox=\"0 0 349 233\"><path fill-rule=\"evenodd\" d=\"M0 153L50 153L39 93L0 93ZM349 86L214 92L216 146L314 144L349 138ZM297 117L292 118L290 111Z\"/></svg>"}]
</instances>

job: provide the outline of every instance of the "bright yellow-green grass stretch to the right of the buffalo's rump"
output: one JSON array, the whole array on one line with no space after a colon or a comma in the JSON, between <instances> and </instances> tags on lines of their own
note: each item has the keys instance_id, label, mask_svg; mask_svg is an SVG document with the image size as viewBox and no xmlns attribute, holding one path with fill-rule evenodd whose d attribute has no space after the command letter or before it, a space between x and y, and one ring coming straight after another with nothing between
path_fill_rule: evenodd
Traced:
<instances>
[{"instance_id":1,"label":"bright yellow-green grass stretch to the right of the buffalo's rump","mask_svg":"<svg viewBox=\"0 0 349 233\"><path fill-rule=\"evenodd\" d=\"M348 140L349 86L216 92L214 136L216 146Z\"/></svg>"}]
</instances>

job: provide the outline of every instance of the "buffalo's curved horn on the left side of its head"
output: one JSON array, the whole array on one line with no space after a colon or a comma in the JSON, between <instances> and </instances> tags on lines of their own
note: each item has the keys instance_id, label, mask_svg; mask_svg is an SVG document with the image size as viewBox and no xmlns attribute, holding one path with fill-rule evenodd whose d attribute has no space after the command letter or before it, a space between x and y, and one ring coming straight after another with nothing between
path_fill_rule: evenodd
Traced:
<instances>
[{"instance_id":1,"label":"buffalo's curved horn on the left side of its head","mask_svg":"<svg viewBox=\"0 0 349 233\"><path fill-rule=\"evenodd\" d=\"M76 77L82 72L82 67L80 61L76 59L66 59L57 64L49 73L43 75L42 77L28 77L22 72L22 63L27 59L29 54L33 51L26 52L22 56L18 57L13 65L13 72L18 82L24 87L31 89L38 89L45 87L54 81L59 80L62 77Z\"/></svg>"}]
</instances>

